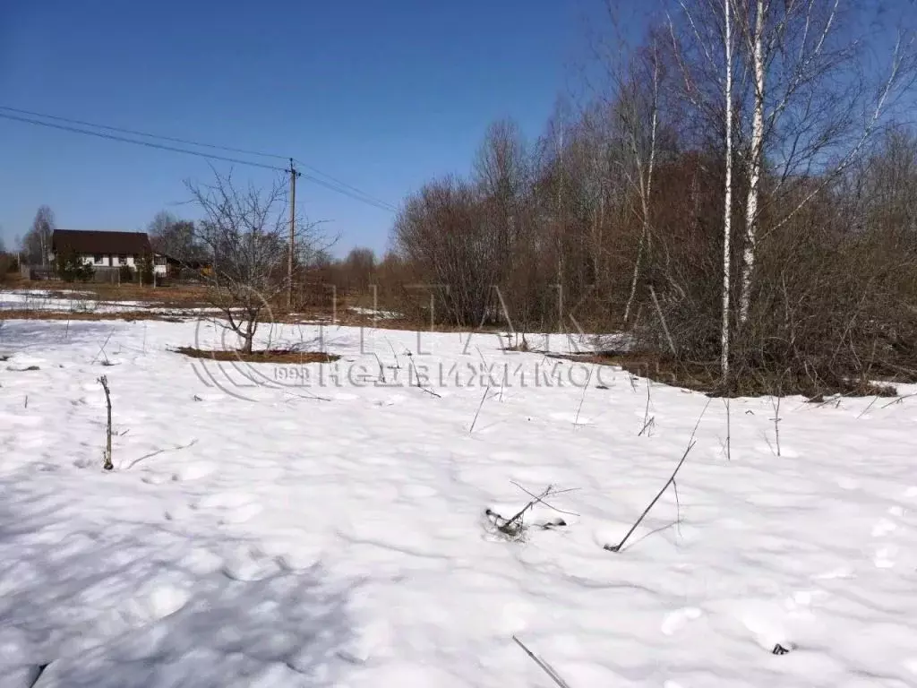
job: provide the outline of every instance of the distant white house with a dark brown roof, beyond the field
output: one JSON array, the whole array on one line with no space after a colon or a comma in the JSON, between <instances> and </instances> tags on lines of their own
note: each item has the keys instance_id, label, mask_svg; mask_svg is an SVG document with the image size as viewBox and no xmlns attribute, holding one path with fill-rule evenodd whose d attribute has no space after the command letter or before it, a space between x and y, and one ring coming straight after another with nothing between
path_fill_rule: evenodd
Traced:
<instances>
[{"instance_id":1,"label":"distant white house with a dark brown roof, beyond the field","mask_svg":"<svg viewBox=\"0 0 917 688\"><path fill-rule=\"evenodd\" d=\"M51 235L51 255L74 253L80 261L96 269L119 269L121 266L137 270L141 257L153 257L153 272L165 275L168 261L153 252L146 232L103 232L83 229L55 229Z\"/></svg>"}]
</instances>

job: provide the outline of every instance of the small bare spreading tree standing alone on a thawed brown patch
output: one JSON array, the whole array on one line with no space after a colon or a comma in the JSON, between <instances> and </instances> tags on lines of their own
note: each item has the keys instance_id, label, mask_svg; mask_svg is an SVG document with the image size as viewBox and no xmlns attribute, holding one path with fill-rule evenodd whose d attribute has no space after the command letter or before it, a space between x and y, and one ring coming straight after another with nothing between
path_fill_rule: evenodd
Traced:
<instances>
[{"instance_id":1,"label":"small bare spreading tree standing alone on a thawed brown patch","mask_svg":"<svg viewBox=\"0 0 917 688\"><path fill-rule=\"evenodd\" d=\"M238 335L243 353L251 353L265 310L270 312L287 284L286 184L239 188L231 173L214 176L209 185L187 183L204 212L194 236L212 261L203 276L223 318L220 324ZM298 245L315 246L315 225L297 220L296 229Z\"/></svg>"}]
</instances>

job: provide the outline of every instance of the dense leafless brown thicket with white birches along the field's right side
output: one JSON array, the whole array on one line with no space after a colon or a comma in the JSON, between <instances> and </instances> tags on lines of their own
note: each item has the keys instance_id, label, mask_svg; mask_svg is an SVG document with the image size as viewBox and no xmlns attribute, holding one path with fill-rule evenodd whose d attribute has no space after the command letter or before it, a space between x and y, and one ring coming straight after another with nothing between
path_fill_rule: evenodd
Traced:
<instances>
[{"instance_id":1,"label":"dense leafless brown thicket with white birches along the field's right side","mask_svg":"<svg viewBox=\"0 0 917 688\"><path fill-rule=\"evenodd\" d=\"M469 175L404 200L381 293L463 327L626 332L725 392L917 379L915 17L684 0L633 43L625 6L578 105L535 140L494 123Z\"/></svg>"}]
</instances>

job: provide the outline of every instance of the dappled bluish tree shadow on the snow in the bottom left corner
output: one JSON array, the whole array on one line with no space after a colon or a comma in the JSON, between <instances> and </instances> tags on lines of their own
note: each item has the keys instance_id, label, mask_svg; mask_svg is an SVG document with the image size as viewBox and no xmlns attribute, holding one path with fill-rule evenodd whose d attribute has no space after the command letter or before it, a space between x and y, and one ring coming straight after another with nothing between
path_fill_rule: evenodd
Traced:
<instances>
[{"instance_id":1,"label":"dappled bluish tree shadow on the snow in the bottom left corner","mask_svg":"<svg viewBox=\"0 0 917 688\"><path fill-rule=\"evenodd\" d=\"M34 476L0 479L0 684L336 683L348 585L320 566L291 571L250 541L100 506L66 504Z\"/></svg>"}]
</instances>

